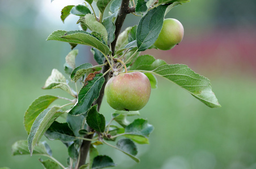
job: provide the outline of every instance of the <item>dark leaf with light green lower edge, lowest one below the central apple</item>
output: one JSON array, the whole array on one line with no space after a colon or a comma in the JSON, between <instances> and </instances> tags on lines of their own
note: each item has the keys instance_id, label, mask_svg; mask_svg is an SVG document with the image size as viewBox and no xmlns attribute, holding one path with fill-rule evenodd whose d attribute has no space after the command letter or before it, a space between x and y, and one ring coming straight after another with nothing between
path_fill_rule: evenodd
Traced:
<instances>
[{"instance_id":1,"label":"dark leaf with light green lower edge, lowest one below the central apple","mask_svg":"<svg viewBox=\"0 0 256 169\"><path fill-rule=\"evenodd\" d=\"M139 162L139 158L135 157L138 154L138 150L136 145L130 139L120 139L117 141L117 148L121 150L121 152L128 155L131 159Z\"/></svg>"}]
</instances>

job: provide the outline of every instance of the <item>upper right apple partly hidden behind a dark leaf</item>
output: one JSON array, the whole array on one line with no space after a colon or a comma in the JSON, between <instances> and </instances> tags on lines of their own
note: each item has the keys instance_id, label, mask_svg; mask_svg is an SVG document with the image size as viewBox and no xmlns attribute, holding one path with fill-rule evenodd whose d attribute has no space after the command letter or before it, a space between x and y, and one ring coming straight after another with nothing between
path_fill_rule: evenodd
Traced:
<instances>
[{"instance_id":1,"label":"upper right apple partly hidden behind a dark leaf","mask_svg":"<svg viewBox=\"0 0 256 169\"><path fill-rule=\"evenodd\" d=\"M181 42L184 36L184 28L177 19L164 20L163 28L156 39L155 46L160 50L170 50Z\"/></svg>"}]
</instances>

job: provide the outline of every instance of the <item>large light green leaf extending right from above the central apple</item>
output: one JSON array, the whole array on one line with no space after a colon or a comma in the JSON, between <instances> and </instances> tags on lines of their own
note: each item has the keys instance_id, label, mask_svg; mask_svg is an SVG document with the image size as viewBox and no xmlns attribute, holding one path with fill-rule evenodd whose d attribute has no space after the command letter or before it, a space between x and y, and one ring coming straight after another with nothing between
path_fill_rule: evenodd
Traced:
<instances>
[{"instance_id":1,"label":"large light green leaf extending right from above the central apple","mask_svg":"<svg viewBox=\"0 0 256 169\"><path fill-rule=\"evenodd\" d=\"M221 106L214 92L212 92L209 79L195 73L188 68L187 65L162 65L152 70L152 72L178 84L178 86L190 92L192 96L202 101L202 103L210 108L218 108Z\"/></svg>"}]
</instances>

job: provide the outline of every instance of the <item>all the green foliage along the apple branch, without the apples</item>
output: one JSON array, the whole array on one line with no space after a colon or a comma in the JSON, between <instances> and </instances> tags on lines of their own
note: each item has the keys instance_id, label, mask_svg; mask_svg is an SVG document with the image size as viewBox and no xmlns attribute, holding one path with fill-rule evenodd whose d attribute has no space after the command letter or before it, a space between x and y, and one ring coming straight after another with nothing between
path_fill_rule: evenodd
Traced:
<instances>
[{"instance_id":1,"label":"all the green foliage along the apple branch, without the apples","mask_svg":"<svg viewBox=\"0 0 256 169\"><path fill-rule=\"evenodd\" d=\"M104 115L99 113L99 109L108 75L142 72L150 79L152 88L157 87L156 76L164 77L184 88L207 106L220 107L207 78L193 72L186 65L169 65L151 55L139 56L141 51L156 48L153 44L163 26L164 16L173 7L185 2L189 1L149 0L126 6L128 13L138 15L141 19L138 25L126 28L120 35L116 34L116 31L120 31L122 25L118 25L116 21L118 18L125 19L118 15L125 7L120 0L87 0L86 5L64 7L61 11L61 20L64 22L70 14L79 16L77 23L83 30L57 30L50 34L47 40L68 42L71 49L76 45L91 46L91 52L99 65L85 63L76 66L75 57L78 50L72 50L67 54L64 71L75 86L78 82L83 86L79 91L77 88L72 89L65 75L53 69L42 89L61 88L70 94L72 99L45 95L33 101L24 115L28 139L16 141L12 145L13 155L44 155L49 158L39 159L44 168L65 168L65 165L52 157L49 145L40 142L41 137L45 135L49 140L59 140L66 145L70 168L96 169L116 166L112 158L97 152L97 145L100 144L120 150L127 157L139 162L136 144L149 143L148 137L153 131L153 126L147 119L138 118L133 122L127 120L127 117L139 115L138 111L116 111L112 113L112 118L106 121ZM99 16L96 16L92 3L96 3L100 11ZM103 18L109 3L109 16ZM87 29L90 31L87 32ZM100 70L101 72L98 72ZM52 106L53 101L57 99L64 99L69 103ZM65 123L56 121L60 116L66 118ZM116 145L112 144L113 141L116 141ZM87 148L84 148L85 144ZM83 152L86 150L87 152ZM87 160L82 161L82 154L88 152L88 158L87 155L83 156Z\"/></svg>"}]
</instances>

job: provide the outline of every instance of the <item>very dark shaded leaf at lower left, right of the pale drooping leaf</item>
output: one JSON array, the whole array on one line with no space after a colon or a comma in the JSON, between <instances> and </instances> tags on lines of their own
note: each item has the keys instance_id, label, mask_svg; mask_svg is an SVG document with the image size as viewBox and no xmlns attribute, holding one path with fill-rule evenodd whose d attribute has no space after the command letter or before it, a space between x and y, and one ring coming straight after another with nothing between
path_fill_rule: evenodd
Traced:
<instances>
[{"instance_id":1,"label":"very dark shaded leaf at lower left, right of the pale drooping leaf","mask_svg":"<svg viewBox=\"0 0 256 169\"><path fill-rule=\"evenodd\" d=\"M54 121L44 134L49 140L61 140L63 143L74 141L75 134L68 123Z\"/></svg>"}]
</instances>

